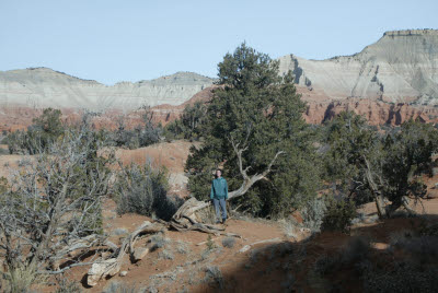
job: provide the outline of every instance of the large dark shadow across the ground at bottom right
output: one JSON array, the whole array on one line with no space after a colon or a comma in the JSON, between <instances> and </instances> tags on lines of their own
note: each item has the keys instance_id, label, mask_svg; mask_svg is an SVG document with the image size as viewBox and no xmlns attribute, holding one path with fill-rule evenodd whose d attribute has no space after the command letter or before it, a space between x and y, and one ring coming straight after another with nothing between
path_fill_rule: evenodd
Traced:
<instances>
[{"instance_id":1,"label":"large dark shadow across the ground at bottom right","mask_svg":"<svg viewBox=\"0 0 438 293\"><path fill-rule=\"evenodd\" d=\"M396 218L255 246L191 292L438 292L438 216Z\"/></svg>"}]
</instances>

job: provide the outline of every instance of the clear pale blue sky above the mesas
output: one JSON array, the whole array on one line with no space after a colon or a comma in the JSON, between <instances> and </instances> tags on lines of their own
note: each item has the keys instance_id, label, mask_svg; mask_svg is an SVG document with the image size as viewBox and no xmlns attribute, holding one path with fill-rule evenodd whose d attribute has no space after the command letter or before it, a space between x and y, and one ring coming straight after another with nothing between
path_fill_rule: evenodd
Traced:
<instances>
[{"instance_id":1,"label":"clear pale blue sky above the mesas","mask_svg":"<svg viewBox=\"0 0 438 293\"><path fill-rule=\"evenodd\" d=\"M437 0L0 0L0 70L111 85L217 65L242 42L278 58L351 55L384 32L438 28Z\"/></svg>"}]
</instances>

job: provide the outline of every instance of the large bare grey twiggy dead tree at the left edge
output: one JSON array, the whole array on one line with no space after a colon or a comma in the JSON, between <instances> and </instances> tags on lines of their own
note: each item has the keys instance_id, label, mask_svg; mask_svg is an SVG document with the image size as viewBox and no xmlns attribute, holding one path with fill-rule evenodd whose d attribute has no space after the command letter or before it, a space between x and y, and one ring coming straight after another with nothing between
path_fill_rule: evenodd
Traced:
<instances>
[{"instance_id":1,"label":"large bare grey twiggy dead tree at the left edge","mask_svg":"<svg viewBox=\"0 0 438 293\"><path fill-rule=\"evenodd\" d=\"M83 266L81 251L114 250L102 235L110 156L91 131L68 130L46 153L11 169L0 194L0 257L11 285L20 271L61 273Z\"/></svg>"}]
</instances>

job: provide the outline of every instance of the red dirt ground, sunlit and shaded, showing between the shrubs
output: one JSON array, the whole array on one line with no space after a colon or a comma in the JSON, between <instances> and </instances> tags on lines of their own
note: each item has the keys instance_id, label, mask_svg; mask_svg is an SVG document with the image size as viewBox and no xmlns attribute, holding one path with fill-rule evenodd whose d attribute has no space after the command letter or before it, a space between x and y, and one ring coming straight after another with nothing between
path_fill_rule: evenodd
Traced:
<instances>
[{"instance_id":1,"label":"red dirt ground, sunlit and shaded, showing between the shrubs","mask_svg":"<svg viewBox=\"0 0 438 293\"><path fill-rule=\"evenodd\" d=\"M165 166L170 174L183 174L184 163L192 143L176 141L173 143L160 143L138 150L118 150L117 157L124 164L145 163L147 157L152 159L155 166ZM0 176L7 176L4 163L16 166L19 155L0 156ZM424 210L416 206L418 212L438 214L437 188L433 188L438 181L435 177L425 177L429 187L430 199L423 201ZM376 208L372 203L362 207L360 212L372 215ZM104 201L104 230L111 235L115 244L120 244L124 236L115 235L115 230L132 232L143 221L152 221L147 216L137 214L118 215L114 201ZM346 246L351 236L366 235L372 239L372 258L379 258L380 253L388 247L391 234L401 230L411 228L417 222L412 219L399 218L374 223L361 223L353 227L350 235L323 232L307 238L308 233L296 231L295 238L287 237L281 222L262 220L230 219L226 231L241 235L235 238L232 248L223 247L226 237L212 237L216 248L208 251L207 235L200 232L174 232L169 231L163 235L169 238L163 248L159 248L147 255L141 261L131 263L128 259L122 267L127 271L126 277L115 276L110 280L101 280L94 288L82 286L84 292L102 292L111 283L122 283L123 286L136 286L135 292L148 289L147 292L324 292L327 280L312 274L312 266L315 260L324 255L339 251ZM239 250L245 245L266 239L278 238L272 243L254 245L245 253ZM138 245L146 245L142 239ZM178 247L184 246L185 251L178 253ZM173 255L173 259L163 258L163 253ZM220 270L221 277L208 279L208 270ZM89 267L78 267L69 271L65 278L80 283ZM344 271L342 276L328 276L332 283L344 288L346 292L359 292L359 281L348 282L348 278L355 280L350 271ZM293 280L292 280L293 279ZM289 280L289 281L288 281ZM347 280L347 282L346 282ZM291 286L293 284L293 286ZM220 288L222 285L222 289ZM291 289L292 288L292 289ZM38 286L43 292L54 292L55 285ZM158 290L158 291L153 291Z\"/></svg>"}]
</instances>

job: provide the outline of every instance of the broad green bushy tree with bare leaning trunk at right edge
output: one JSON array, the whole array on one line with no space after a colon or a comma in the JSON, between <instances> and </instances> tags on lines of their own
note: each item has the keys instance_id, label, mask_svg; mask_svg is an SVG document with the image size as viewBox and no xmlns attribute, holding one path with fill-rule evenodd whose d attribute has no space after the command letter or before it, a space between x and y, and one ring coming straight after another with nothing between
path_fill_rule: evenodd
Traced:
<instances>
[{"instance_id":1,"label":"broad green bushy tree with bare leaning trunk at right edge","mask_svg":"<svg viewBox=\"0 0 438 293\"><path fill-rule=\"evenodd\" d=\"M325 180L357 203L374 200L380 218L406 207L408 198L427 195L422 174L431 174L438 149L433 125L410 120L381 133L364 117L344 112L326 125L324 142ZM385 207L384 199L391 204Z\"/></svg>"}]
</instances>

